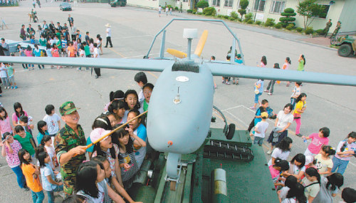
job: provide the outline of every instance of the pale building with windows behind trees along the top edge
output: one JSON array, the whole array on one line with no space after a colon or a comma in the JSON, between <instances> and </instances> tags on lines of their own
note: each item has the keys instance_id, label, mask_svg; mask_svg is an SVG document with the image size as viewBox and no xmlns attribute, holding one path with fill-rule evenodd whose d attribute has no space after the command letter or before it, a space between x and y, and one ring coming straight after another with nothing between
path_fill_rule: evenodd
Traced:
<instances>
[{"instance_id":1,"label":"pale building with windows behind trees along the top edge","mask_svg":"<svg viewBox=\"0 0 356 203\"><path fill-rule=\"evenodd\" d=\"M232 11L239 10L240 0L208 0L210 6L214 6L217 14L229 15ZM246 9L247 13L253 13L256 21L266 21L268 18L279 21L281 12L286 8L297 10L299 0L248 0L249 4ZM301 0L300 0L301 1ZM144 6L152 9L157 9L159 5L180 6L182 3L183 10L192 9L194 0L127 0L127 4L134 6ZM325 28L328 19L332 20L333 26L330 28L332 32L337 21L342 22L340 32L356 32L356 0L320 0L318 4L325 6L325 14L316 17L310 26L313 29ZM303 16L295 16L295 26L303 27Z\"/></svg>"}]
</instances>

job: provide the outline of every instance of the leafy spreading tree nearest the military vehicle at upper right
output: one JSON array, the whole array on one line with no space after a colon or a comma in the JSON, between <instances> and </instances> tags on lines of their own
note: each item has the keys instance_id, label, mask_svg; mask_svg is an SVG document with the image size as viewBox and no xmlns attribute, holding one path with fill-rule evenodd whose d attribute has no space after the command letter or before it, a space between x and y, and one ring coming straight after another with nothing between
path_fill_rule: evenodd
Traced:
<instances>
[{"instance_id":1,"label":"leafy spreading tree nearest the military vehicle at upper right","mask_svg":"<svg viewBox=\"0 0 356 203\"><path fill-rule=\"evenodd\" d=\"M303 26L307 28L314 21L315 17L323 12L323 6L315 4L318 0L300 1L297 6L297 13L303 16Z\"/></svg>"}]
</instances>

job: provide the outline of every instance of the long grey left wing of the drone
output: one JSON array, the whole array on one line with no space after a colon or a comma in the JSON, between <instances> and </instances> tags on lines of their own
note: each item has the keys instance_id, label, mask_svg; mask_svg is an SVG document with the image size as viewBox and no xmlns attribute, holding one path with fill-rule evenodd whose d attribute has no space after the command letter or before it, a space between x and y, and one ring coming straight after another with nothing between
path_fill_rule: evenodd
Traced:
<instances>
[{"instance_id":1,"label":"long grey left wing of the drone","mask_svg":"<svg viewBox=\"0 0 356 203\"><path fill-rule=\"evenodd\" d=\"M133 71L162 72L164 68L172 67L174 61L155 59L128 58L62 58L62 57L19 57L1 56L2 63L29 63L52 66L78 66L88 68L110 68Z\"/></svg>"}]
</instances>

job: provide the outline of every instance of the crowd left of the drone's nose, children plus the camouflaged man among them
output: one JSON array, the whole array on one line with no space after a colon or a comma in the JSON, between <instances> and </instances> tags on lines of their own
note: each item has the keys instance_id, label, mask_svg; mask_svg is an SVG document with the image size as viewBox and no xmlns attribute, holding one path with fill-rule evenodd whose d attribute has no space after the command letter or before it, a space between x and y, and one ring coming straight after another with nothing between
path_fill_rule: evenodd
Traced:
<instances>
[{"instance_id":1,"label":"crowd left of the drone's nose, children plus the camouflaged man among them","mask_svg":"<svg viewBox=\"0 0 356 203\"><path fill-rule=\"evenodd\" d=\"M43 202L45 191L48 202L54 202L55 192L66 195L64 202L135 202L127 190L145 160L147 132L145 117L132 119L147 110L154 88L143 72L136 74L135 81L141 88L138 94L135 90L110 93L110 103L95 118L88 140L78 125L80 117L73 102L61 105L61 117L53 105L46 105L46 115L37 123L36 137L33 118L21 103L14 103L12 122L5 108L0 107L1 155L14 171L19 187L31 190L33 202ZM127 120L132 121L97 142ZM95 145L86 150L88 162L81 150L93 142Z\"/></svg>"}]
</instances>

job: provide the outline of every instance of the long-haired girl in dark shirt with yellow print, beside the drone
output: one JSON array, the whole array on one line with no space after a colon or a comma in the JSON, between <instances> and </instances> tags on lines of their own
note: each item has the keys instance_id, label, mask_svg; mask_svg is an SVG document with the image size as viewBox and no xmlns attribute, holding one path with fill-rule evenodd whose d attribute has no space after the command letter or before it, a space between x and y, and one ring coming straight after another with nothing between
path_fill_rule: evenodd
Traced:
<instances>
[{"instance_id":1,"label":"long-haired girl in dark shirt with yellow print, beside the drone","mask_svg":"<svg viewBox=\"0 0 356 203\"><path fill-rule=\"evenodd\" d=\"M134 142L136 144L140 143L138 140L132 141L129 132L123 128L112 133L112 140L119 146L118 158L122 183L125 189L129 189L132 185L133 177L139 170L133 145Z\"/></svg>"}]
</instances>

